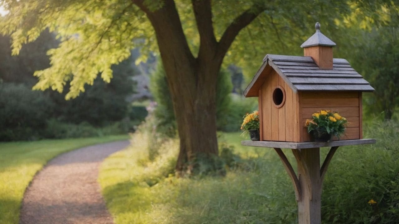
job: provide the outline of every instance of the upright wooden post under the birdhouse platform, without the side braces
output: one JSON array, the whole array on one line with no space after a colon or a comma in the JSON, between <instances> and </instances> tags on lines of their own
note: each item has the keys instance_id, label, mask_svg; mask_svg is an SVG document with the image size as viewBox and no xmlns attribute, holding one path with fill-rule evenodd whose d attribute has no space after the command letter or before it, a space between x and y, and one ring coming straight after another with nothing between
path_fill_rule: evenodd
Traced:
<instances>
[{"instance_id":1,"label":"upright wooden post under the birdhouse platform, without the side braces","mask_svg":"<svg viewBox=\"0 0 399 224\"><path fill-rule=\"evenodd\" d=\"M298 165L301 200L298 223L321 223L320 148L292 149Z\"/></svg>"}]
</instances>

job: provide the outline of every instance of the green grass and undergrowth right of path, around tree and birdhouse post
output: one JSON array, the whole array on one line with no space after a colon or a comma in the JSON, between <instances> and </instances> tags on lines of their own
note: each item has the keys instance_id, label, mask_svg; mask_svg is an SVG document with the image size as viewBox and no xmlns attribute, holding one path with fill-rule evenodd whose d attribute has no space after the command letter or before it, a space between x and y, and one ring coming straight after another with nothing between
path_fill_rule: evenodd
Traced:
<instances>
[{"instance_id":1,"label":"green grass and undergrowth right of path, around tree and birdhouse post","mask_svg":"<svg viewBox=\"0 0 399 224\"><path fill-rule=\"evenodd\" d=\"M399 220L399 124L373 125L365 138L377 138L377 144L341 147L334 155L322 194L323 223ZM221 133L219 140L235 146L245 169L228 168L225 177L176 178L168 173L178 141L157 143L159 154L151 161L148 135L135 134L132 146L111 155L100 170L99 183L115 223L297 223L294 191L276 153L241 147L239 133ZM322 149L321 159L327 150ZM295 166L290 150L283 151ZM376 205L367 204L371 198Z\"/></svg>"}]
</instances>

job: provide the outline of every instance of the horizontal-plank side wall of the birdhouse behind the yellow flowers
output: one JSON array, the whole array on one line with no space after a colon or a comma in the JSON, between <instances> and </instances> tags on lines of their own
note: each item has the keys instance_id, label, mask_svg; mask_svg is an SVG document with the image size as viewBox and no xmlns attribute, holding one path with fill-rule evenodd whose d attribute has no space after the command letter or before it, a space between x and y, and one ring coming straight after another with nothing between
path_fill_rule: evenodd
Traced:
<instances>
[{"instance_id":1,"label":"horizontal-plank side wall of the birdhouse behind the yellow flowers","mask_svg":"<svg viewBox=\"0 0 399 224\"><path fill-rule=\"evenodd\" d=\"M332 110L344 116L348 122L346 134L341 140L361 139L361 92L299 92L300 98L300 142L310 141L306 119L314 112ZM335 139L336 140L336 139Z\"/></svg>"}]
</instances>

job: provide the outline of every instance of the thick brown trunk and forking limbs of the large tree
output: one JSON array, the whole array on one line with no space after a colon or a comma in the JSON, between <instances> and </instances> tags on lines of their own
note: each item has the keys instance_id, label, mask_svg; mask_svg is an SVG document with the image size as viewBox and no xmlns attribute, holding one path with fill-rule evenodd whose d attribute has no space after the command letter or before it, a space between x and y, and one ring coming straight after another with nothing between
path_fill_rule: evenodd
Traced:
<instances>
[{"instance_id":1,"label":"thick brown trunk and forking limbs of the large tree","mask_svg":"<svg viewBox=\"0 0 399 224\"><path fill-rule=\"evenodd\" d=\"M144 0L132 0L142 9L154 28L164 65L180 137L177 171L190 169L197 155L217 155L216 82L227 49L239 31L263 10L253 6L239 15L216 41L210 0L192 0L200 46L195 58L173 0L164 0L156 10Z\"/></svg>"}]
</instances>

